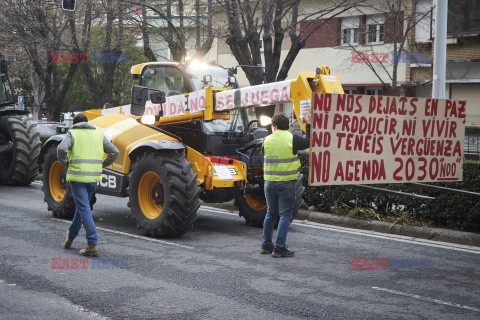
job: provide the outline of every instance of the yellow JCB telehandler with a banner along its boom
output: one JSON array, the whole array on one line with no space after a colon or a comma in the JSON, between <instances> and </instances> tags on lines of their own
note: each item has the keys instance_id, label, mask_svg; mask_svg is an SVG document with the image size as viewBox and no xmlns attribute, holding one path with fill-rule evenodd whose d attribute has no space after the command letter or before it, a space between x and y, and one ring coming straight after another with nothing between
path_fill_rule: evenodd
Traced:
<instances>
[{"instance_id":1,"label":"yellow JCB telehandler with a banner along its boom","mask_svg":"<svg viewBox=\"0 0 480 320\"><path fill-rule=\"evenodd\" d=\"M120 150L104 169L97 193L129 197L138 228L149 236L190 230L199 199L235 200L247 223L261 226L266 214L261 143L268 130L253 126L258 121L249 121L247 108L291 104L299 119L309 112L312 92L343 93L327 67L246 88L237 88L228 69L204 63L143 63L131 73L138 85L130 105L84 113ZM71 219L75 206L56 157L61 140L51 137L42 148L44 194L54 216ZM294 215L303 203L302 180Z\"/></svg>"}]
</instances>

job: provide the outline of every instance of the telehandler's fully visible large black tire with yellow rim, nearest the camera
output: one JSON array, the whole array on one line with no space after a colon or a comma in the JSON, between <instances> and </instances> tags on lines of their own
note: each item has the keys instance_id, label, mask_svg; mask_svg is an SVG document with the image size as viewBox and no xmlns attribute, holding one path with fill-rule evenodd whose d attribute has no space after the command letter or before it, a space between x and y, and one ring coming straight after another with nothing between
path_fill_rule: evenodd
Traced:
<instances>
[{"instance_id":1,"label":"telehandler's fully visible large black tire with yellow rim, nearest the camera","mask_svg":"<svg viewBox=\"0 0 480 320\"><path fill-rule=\"evenodd\" d=\"M151 237L177 237L193 228L200 207L197 174L176 151L145 152L132 165L130 202L138 229Z\"/></svg>"}]
</instances>

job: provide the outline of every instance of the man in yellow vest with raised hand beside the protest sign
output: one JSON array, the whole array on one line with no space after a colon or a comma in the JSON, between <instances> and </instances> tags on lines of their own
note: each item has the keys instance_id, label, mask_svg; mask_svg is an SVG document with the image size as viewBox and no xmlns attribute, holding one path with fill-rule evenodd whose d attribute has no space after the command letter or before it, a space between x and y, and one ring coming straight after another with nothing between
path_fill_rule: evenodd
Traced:
<instances>
[{"instance_id":1,"label":"man in yellow vest with raised hand beside the protest sign","mask_svg":"<svg viewBox=\"0 0 480 320\"><path fill-rule=\"evenodd\" d=\"M306 137L291 134L288 131L289 121L283 114L272 118L272 134L263 142L265 180L265 198L267 215L263 222L263 241L260 253L271 253L272 256L293 257L294 252L287 249L287 232L292 220L295 206L295 183L298 179L300 161L298 150L310 146L310 118L306 117ZM272 242L273 226L280 216L275 247Z\"/></svg>"}]
</instances>

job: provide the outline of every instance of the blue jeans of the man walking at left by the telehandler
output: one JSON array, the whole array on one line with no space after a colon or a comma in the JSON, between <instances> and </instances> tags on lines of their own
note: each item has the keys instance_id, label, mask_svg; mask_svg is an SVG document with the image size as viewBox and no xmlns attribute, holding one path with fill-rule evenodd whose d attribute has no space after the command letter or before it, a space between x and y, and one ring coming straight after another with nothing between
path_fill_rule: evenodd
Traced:
<instances>
[{"instance_id":1,"label":"blue jeans of the man walking at left by the telehandler","mask_svg":"<svg viewBox=\"0 0 480 320\"><path fill-rule=\"evenodd\" d=\"M70 240L75 239L83 224L85 232L87 233L87 243L96 246L98 241L97 228L95 228L95 223L93 222L90 201L97 189L97 183L70 181L70 186L72 188L73 201L75 201L76 209L72 224L68 229L68 237Z\"/></svg>"}]
</instances>

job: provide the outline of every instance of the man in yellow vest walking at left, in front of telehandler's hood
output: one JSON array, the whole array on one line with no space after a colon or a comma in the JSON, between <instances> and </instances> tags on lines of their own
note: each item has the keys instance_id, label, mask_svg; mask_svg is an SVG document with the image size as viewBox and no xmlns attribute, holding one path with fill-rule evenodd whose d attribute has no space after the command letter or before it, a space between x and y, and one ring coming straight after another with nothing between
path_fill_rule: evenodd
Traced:
<instances>
[{"instance_id":1,"label":"man in yellow vest walking at left, in front of telehandler's hood","mask_svg":"<svg viewBox=\"0 0 480 320\"><path fill-rule=\"evenodd\" d=\"M104 153L107 154L103 160ZM83 113L73 118L73 126L63 138L57 148L58 160L67 169L67 181L70 182L73 200L75 202L75 216L70 228L65 233L65 248L72 246L80 229L85 228L87 248L80 250L84 256L98 256L97 229L93 222L90 201L92 200L97 182L101 180L102 168L115 161L118 149L88 123Z\"/></svg>"}]
</instances>

